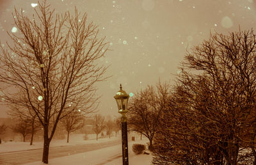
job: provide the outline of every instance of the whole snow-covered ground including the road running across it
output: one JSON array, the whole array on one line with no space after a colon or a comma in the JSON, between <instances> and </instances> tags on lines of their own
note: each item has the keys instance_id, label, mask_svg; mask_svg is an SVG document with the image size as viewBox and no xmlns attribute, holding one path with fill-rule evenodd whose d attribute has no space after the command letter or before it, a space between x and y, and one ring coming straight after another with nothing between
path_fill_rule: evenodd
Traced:
<instances>
[{"instance_id":1,"label":"whole snow-covered ground including the road running across it","mask_svg":"<svg viewBox=\"0 0 256 165\"><path fill-rule=\"evenodd\" d=\"M122 146L121 139L119 137L102 138L96 141L95 139L90 139L84 141L81 138L82 135L74 135L70 143L66 143L63 141L53 141L51 144L51 148L60 148L56 153L58 155L54 156L54 153L49 155L49 164L52 165L65 165L65 164L92 164L92 165L115 165L122 164ZM139 138L138 138L139 139ZM132 152L132 145L134 143L146 144L148 142L147 139L129 141L129 164L132 165L143 165L143 164L151 164L152 155L135 155ZM108 145L104 145L108 143ZM88 150L81 150L83 146L88 146ZM100 146L99 148L94 148L94 146ZM76 149L68 150L68 147L78 147ZM62 150L61 150L62 148ZM67 150L66 150L67 149ZM19 159L19 154L25 152L24 150L36 151L38 153L29 153L24 157L24 161ZM50 149L51 150L51 149ZM66 150L66 151L65 151ZM78 152L78 150L81 150ZM20 152L19 152L20 151ZM147 151L148 152L148 151ZM12 155L12 158L15 159L13 162L6 162L6 155L9 153L16 153L16 155ZM4 161L5 159L5 161ZM0 145L0 164L24 164L27 165L42 165L42 143L34 143L33 146L29 146L29 143L24 142L4 142Z\"/></svg>"}]
</instances>

